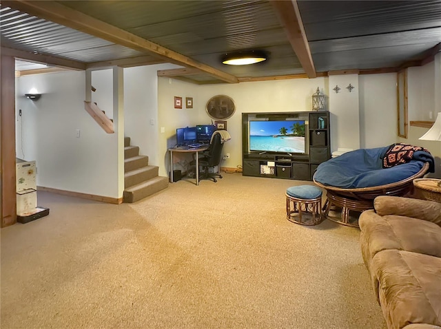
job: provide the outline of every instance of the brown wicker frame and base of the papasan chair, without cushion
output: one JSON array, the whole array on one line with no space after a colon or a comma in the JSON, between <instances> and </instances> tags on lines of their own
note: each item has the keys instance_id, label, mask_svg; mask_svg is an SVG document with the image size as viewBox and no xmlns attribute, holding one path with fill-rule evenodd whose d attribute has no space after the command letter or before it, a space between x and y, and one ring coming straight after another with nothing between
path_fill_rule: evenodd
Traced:
<instances>
[{"instance_id":1,"label":"brown wicker frame and base of the papasan chair, without cushion","mask_svg":"<svg viewBox=\"0 0 441 329\"><path fill-rule=\"evenodd\" d=\"M337 222L346 226L358 227L358 219L354 222L349 221L349 211L362 212L373 209L373 199L378 195L403 196L413 191L413 180L421 178L429 170L429 162L425 162L424 166L413 176L410 176L400 182L379 185L378 187L361 187L358 189L342 189L341 187L331 187L317 182L314 183L318 187L326 190L327 200L323 206L323 216L332 222ZM334 206L341 208L341 217L331 217L329 211Z\"/></svg>"}]
</instances>

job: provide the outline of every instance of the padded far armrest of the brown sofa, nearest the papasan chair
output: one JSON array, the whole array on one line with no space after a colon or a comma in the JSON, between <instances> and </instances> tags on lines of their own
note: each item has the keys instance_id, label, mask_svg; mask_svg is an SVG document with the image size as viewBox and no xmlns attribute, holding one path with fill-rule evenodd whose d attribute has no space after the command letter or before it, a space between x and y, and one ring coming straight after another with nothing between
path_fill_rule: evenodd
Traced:
<instances>
[{"instance_id":1,"label":"padded far armrest of the brown sofa, nearest the papasan chair","mask_svg":"<svg viewBox=\"0 0 441 329\"><path fill-rule=\"evenodd\" d=\"M407 216L441 226L441 203L439 202L380 195L373 200L373 207L380 216Z\"/></svg>"}]
</instances>

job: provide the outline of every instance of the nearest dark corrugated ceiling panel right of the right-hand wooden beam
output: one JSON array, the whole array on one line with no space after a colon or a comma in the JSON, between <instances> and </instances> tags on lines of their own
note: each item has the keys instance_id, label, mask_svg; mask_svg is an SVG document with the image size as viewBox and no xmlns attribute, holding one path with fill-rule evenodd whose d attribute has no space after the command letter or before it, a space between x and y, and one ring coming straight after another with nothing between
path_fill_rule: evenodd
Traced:
<instances>
[{"instance_id":1,"label":"nearest dark corrugated ceiling panel right of the right-hand wooden beam","mask_svg":"<svg viewBox=\"0 0 441 329\"><path fill-rule=\"evenodd\" d=\"M433 28L441 24L441 0L299 0L298 6L308 41Z\"/></svg>"}]
</instances>

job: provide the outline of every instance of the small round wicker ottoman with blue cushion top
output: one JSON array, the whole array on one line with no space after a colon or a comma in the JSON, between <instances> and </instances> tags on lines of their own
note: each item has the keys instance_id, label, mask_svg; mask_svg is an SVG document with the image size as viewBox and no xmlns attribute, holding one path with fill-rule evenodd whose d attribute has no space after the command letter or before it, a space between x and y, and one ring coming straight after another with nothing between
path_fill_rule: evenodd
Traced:
<instances>
[{"instance_id":1,"label":"small round wicker ottoman with blue cushion top","mask_svg":"<svg viewBox=\"0 0 441 329\"><path fill-rule=\"evenodd\" d=\"M311 185L289 187L286 196L287 220L302 225L317 225L322 222L321 189Z\"/></svg>"}]
</instances>

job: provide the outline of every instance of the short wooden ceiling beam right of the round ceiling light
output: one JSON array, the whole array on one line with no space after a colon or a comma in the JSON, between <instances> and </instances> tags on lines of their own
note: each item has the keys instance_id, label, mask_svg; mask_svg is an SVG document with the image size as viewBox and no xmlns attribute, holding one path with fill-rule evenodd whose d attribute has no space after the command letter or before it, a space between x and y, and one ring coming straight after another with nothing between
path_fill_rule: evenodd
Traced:
<instances>
[{"instance_id":1,"label":"short wooden ceiling beam right of the round ceiling light","mask_svg":"<svg viewBox=\"0 0 441 329\"><path fill-rule=\"evenodd\" d=\"M308 78L316 78L316 68L312 61L311 51L303 28L302 18L300 17L300 10L298 10L298 3L296 0L270 1L273 8L276 10L280 23L285 28L285 33L291 43L291 47L296 53L303 70Z\"/></svg>"}]
</instances>

